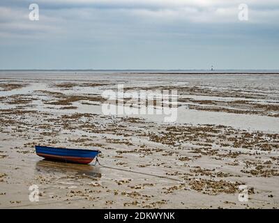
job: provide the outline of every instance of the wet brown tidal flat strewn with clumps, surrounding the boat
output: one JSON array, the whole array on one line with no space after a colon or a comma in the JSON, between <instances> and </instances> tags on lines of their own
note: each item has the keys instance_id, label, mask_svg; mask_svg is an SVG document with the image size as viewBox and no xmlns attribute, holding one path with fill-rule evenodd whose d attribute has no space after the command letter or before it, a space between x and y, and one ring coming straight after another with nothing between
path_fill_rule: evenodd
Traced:
<instances>
[{"instance_id":1,"label":"wet brown tidal flat strewn with clumps, surrounding the boat","mask_svg":"<svg viewBox=\"0 0 279 223\"><path fill-rule=\"evenodd\" d=\"M176 89L177 121L103 115L117 84ZM278 86L277 74L0 72L0 208L278 208ZM98 148L105 167L43 160L36 144Z\"/></svg>"}]
</instances>

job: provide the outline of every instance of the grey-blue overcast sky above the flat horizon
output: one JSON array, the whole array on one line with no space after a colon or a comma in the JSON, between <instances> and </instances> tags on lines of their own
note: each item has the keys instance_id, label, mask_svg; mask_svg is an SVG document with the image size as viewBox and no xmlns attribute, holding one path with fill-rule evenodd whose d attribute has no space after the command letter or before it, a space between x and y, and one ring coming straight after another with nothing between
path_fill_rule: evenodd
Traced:
<instances>
[{"instance_id":1,"label":"grey-blue overcast sky above the flat horizon","mask_svg":"<svg viewBox=\"0 0 279 223\"><path fill-rule=\"evenodd\" d=\"M29 20L38 3L39 20ZM239 20L239 4L248 21ZM0 69L279 69L278 0L1 0Z\"/></svg>"}]
</instances>

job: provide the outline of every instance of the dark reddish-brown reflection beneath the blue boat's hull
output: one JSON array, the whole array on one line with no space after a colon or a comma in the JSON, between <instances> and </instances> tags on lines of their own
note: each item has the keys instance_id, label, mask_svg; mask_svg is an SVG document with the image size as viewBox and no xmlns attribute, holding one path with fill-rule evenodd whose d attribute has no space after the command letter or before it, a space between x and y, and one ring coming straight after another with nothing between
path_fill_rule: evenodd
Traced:
<instances>
[{"instance_id":1,"label":"dark reddish-brown reflection beneath the blue boat's hull","mask_svg":"<svg viewBox=\"0 0 279 223\"><path fill-rule=\"evenodd\" d=\"M55 162L51 160L40 160L36 163L36 170L40 174L76 174L79 176L91 176L100 178L99 168L88 164L73 164L66 162Z\"/></svg>"}]
</instances>

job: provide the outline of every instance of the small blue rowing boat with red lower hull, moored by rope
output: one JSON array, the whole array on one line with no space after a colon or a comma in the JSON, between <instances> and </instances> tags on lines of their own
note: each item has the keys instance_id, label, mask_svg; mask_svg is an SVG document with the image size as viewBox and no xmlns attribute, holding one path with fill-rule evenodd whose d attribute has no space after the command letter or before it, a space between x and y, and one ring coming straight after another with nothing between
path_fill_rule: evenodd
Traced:
<instances>
[{"instance_id":1,"label":"small blue rowing boat with red lower hull, moored by rope","mask_svg":"<svg viewBox=\"0 0 279 223\"><path fill-rule=\"evenodd\" d=\"M76 148L55 148L48 146L35 146L36 154L50 160L61 160L63 162L74 162L89 164L98 157L100 151Z\"/></svg>"}]
</instances>

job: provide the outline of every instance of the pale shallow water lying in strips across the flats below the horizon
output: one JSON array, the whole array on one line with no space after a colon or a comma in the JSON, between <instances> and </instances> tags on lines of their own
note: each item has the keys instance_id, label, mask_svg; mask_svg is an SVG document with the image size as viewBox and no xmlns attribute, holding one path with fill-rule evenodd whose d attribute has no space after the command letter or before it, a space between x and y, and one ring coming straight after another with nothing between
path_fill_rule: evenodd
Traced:
<instances>
[{"instance_id":1,"label":"pale shallow water lying in strips across the flats below the horizon","mask_svg":"<svg viewBox=\"0 0 279 223\"><path fill-rule=\"evenodd\" d=\"M261 95L262 98L239 98L229 95L193 95L179 93L179 98L192 98L193 100L216 100L220 102L232 102L236 100L246 100L261 104L279 103L279 75L274 74L229 74L229 75L204 75L204 74L128 74L114 71L1 71L0 79L7 81L22 81L30 84L22 89L13 91L0 91L0 97L10 95L36 95L35 91L47 90L52 92L64 93L66 95L101 95L106 89L116 91L116 84L123 84L124 88L166 86L176 89L177 86L194 86L210 91L252 93ZM51 87L60 82L102 82L108 85L98 87L73 87L72 89L59 89ZM29 108L40 112L63 113L59 110L60 106L44 105L41 100L50 100L47 96L40 95L39 100L33 101L35 107ZM77 109L68 109L67 113L93 113L102 114L99 102L96 105L82 105L80 102L73 102ZM183 103L181 103L183 105ZM195 103L188 103L195 105ZM15 105L1 105L1 109L15 108ZM161 123L164 115L135 115L146 120ZM230 114L226 112L208 112L188 109L188 106L178 108L176 123L213 124L228 125L243 130L260 130L268 132L279 131L279 118L270 116L260 116L256 114Z\"/></svg>"}]
</instances>

